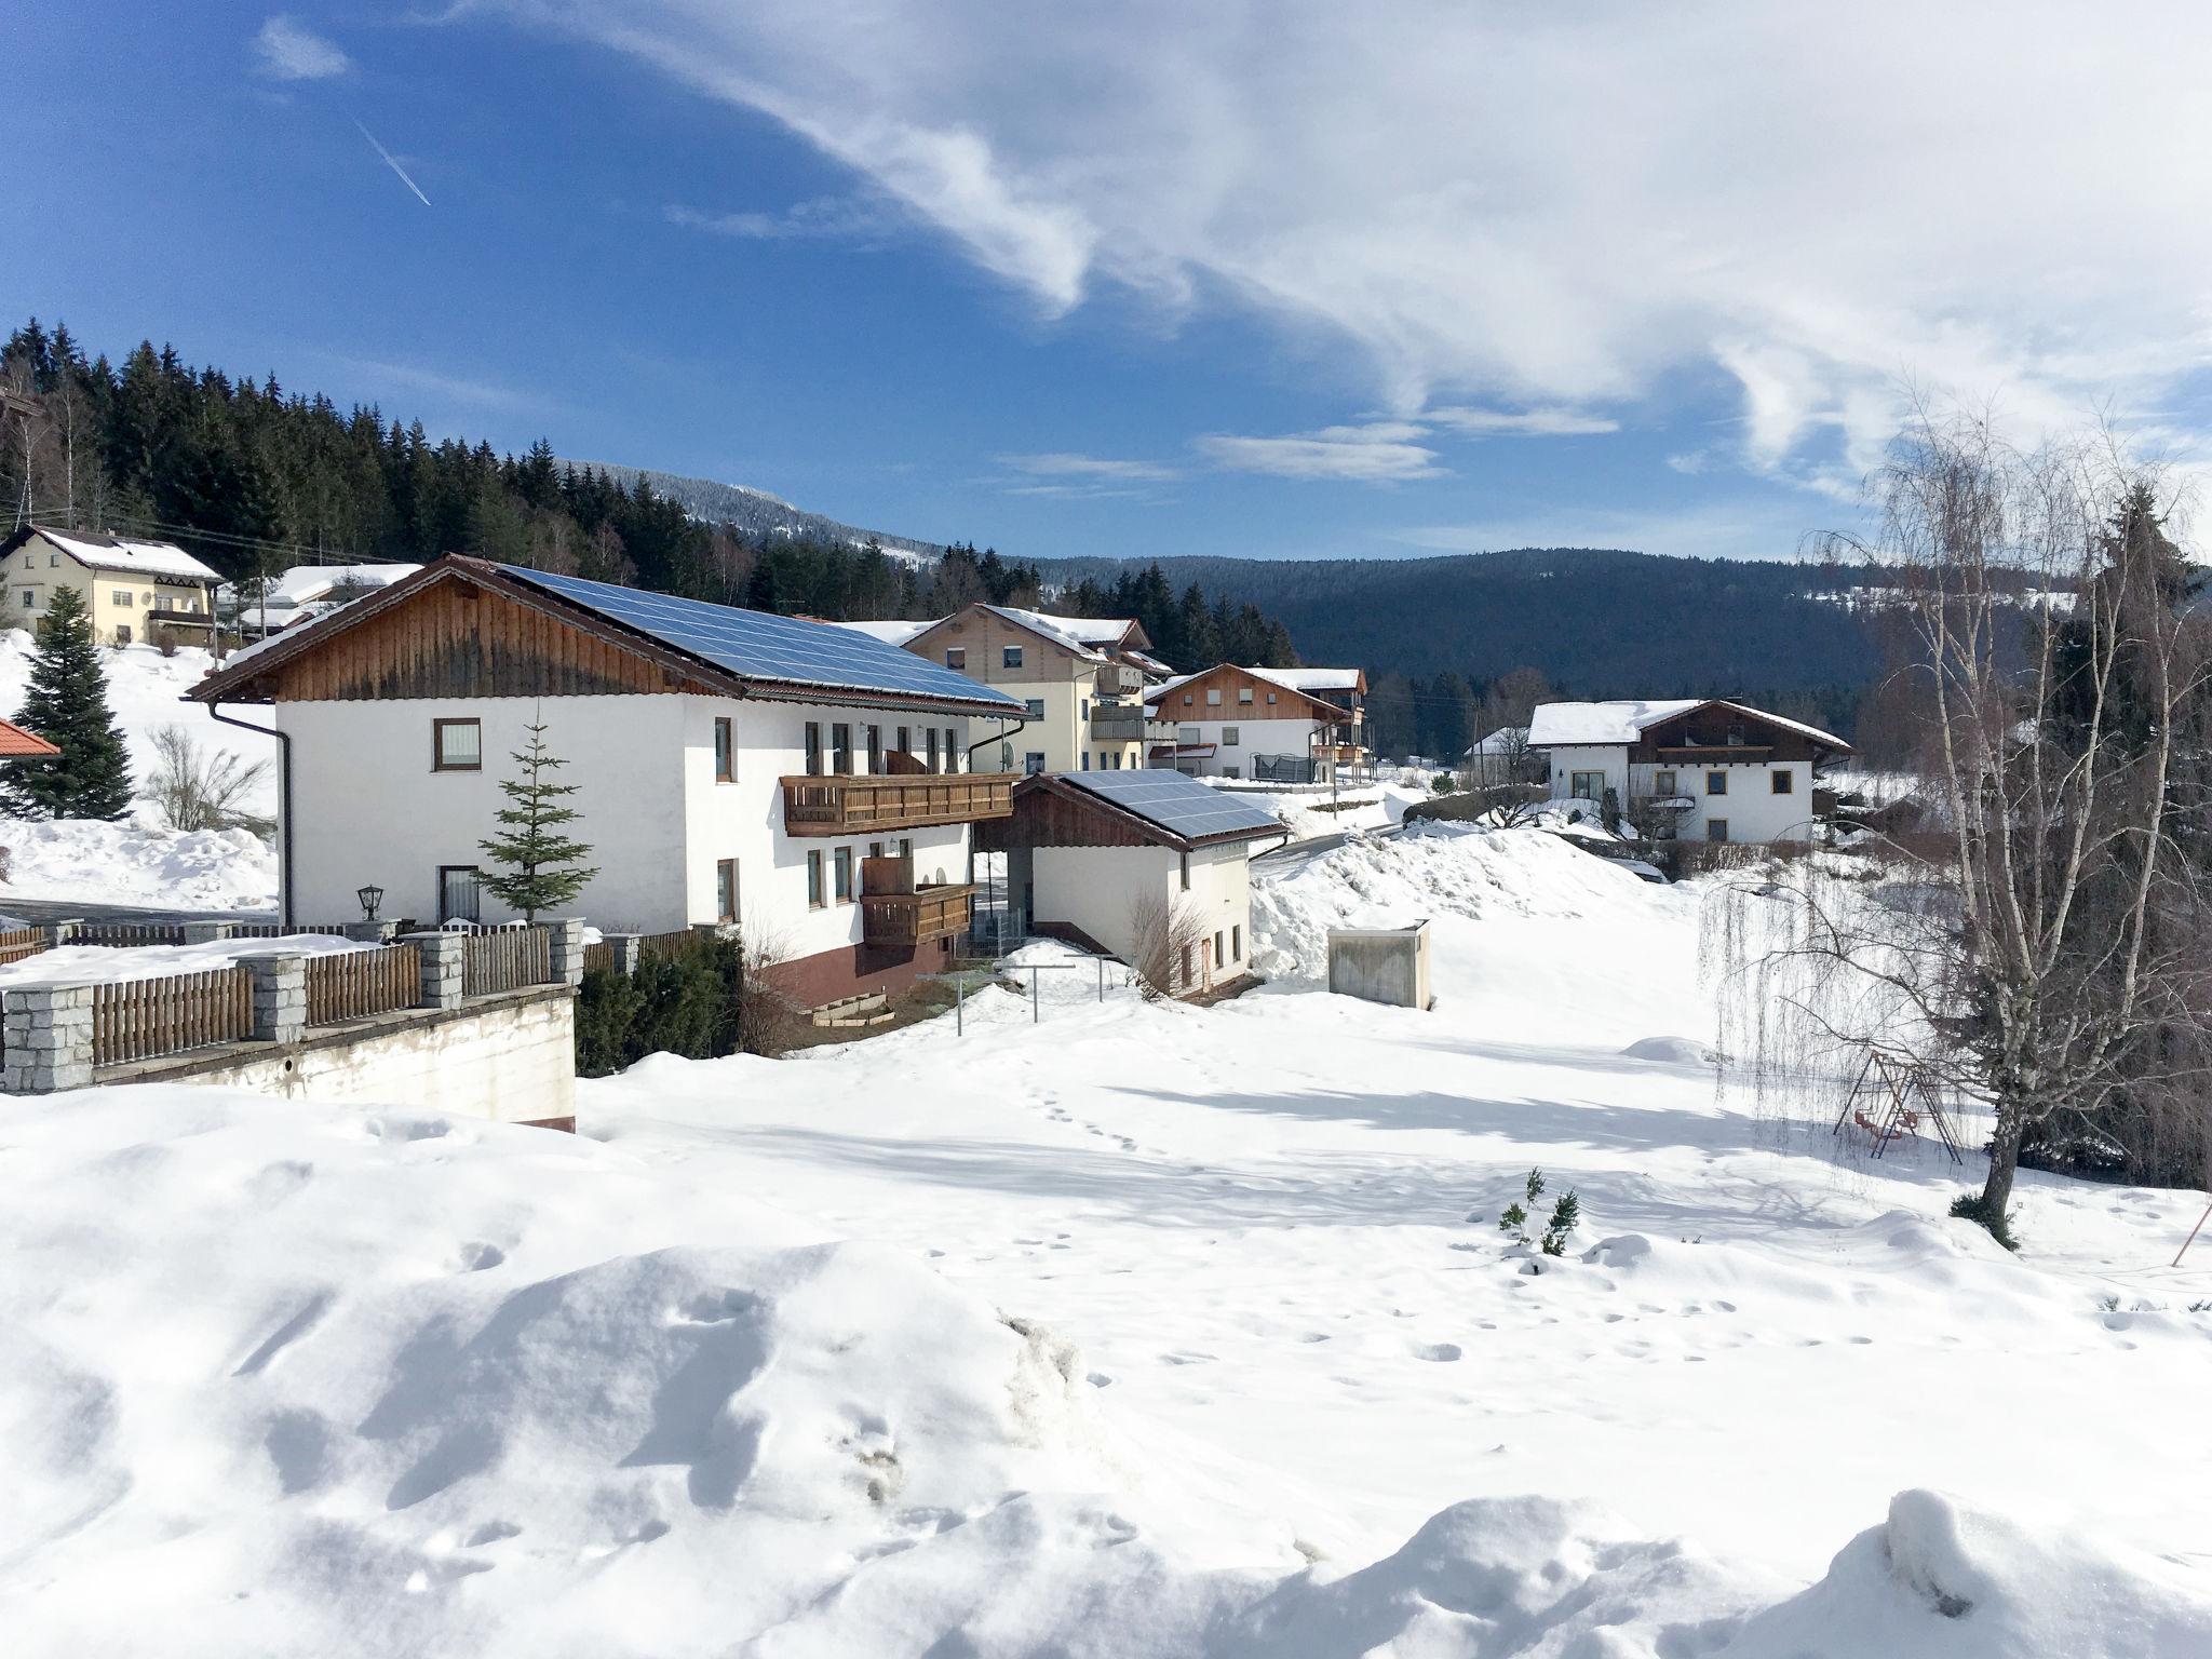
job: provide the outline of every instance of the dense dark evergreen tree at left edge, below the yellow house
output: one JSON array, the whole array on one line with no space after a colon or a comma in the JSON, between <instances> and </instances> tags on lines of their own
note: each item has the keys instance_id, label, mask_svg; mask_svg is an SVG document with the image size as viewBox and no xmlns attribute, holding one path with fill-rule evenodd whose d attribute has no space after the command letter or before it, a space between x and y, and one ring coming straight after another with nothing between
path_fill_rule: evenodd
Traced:
<instances>
[{"instance_id":1,"label":"dense dark evergreen tree at left edge, below the yellow house","mask_svg":"<svg viewBox=\"0 0 2212 1659\"><path fill-rule=\"evenodd\" d=\"M100 668L93 619L75 588L58 588L46 606L31 688L15 723L38 732L60 754L9 761L0 770L0 812L11 818L122 818L131 812L131 759Z\"/></svg>"}]
</instances>

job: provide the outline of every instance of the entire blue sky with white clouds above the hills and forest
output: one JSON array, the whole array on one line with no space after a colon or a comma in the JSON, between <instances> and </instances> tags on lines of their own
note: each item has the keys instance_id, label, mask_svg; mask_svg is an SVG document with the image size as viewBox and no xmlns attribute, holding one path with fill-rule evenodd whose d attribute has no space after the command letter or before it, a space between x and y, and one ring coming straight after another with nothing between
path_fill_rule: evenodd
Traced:
<instances>
[{"instance_id":1,"label":"entire blue sky with white clouds above the hills and forest","mask_svg":"<svg viewBox=\"0 0 2212 1659\"><path fill-rule=\"evenodd\" d=\"M18 11L0 310L1024 555L1790 555L1909 385L2199 447L2205 117L1964 11Z\"/></svg>"}]
</instances>

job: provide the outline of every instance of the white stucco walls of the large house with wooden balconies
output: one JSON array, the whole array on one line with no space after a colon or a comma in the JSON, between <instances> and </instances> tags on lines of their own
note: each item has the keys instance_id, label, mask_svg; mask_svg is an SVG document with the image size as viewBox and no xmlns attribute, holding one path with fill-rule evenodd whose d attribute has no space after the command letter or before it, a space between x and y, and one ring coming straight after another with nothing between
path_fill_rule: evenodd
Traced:
<instances>
[{"instance_id":1,"label":"white stucco walls of the large house with wooden balconies","mask_svg":"<svg viewBox=\"0 0 2212 1659\"><path fill-rule=\"evenodd\" d=\"M734 721L737 776L714 781L714 719ZM482 721L480 772L436 772L436 719ZM825 896L834 891L832 852L858 858L869 841L783 834L781 779L805 772L805 723L827 732L854 728L854 770L867 770L867 726L883 728L883 748L909 728L916 752L922 730L971 741L967 721L947 714L863 710L823 703L732 701L717 697L491 697L279 703L276 730L292 737L292 914L334 922L361 914L354 891L385 889L385 916L425 922L438 916L438 867L482 865L480 841L504 805L500 781L513 774L509 754L546 726L546 748L566 765L562 783L584 816L573 825L591 845L593 880L564 909L604 929L648 933L717 920L714 865L737 858L739 920L748 938L779 958L860 940L860 907L807 905L807 849L823 854ZM967 770L967 757L960 757ZM967 878L967 825L905 832L925 880ZM896 849L889 836L885 852ZM484 894L484 920L507 911Z\"/></svg>"}]
</instances>

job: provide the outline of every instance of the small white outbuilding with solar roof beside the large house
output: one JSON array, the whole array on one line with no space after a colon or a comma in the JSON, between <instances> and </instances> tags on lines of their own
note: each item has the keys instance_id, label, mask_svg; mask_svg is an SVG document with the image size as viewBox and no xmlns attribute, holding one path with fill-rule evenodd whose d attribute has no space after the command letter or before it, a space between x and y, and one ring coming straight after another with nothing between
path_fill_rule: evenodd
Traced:
<instances>
[{"instance_id":1,"label":"small white outbuilding with solar roof beside the large house","mask_svg":"<svg viewBox=\"0 0 2212 1659\"><path fill-rule=\"evenodd\" d=\"M1172 770L1046 772L975 827L1006 854L1020 931L1117 956L1170 995L1250 973L1252 843L1287 830Z\"/></svg>"}]
</instances>

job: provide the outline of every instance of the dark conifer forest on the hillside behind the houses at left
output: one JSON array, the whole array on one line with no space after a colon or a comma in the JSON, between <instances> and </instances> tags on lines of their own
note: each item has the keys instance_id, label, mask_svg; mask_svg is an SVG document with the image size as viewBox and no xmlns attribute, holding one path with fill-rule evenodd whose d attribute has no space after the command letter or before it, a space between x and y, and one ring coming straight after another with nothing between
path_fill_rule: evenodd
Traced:
<instances>
[{"instance_id":1,"label":"dark conifer forest on the hillside behind the houses at left","mask_svg":"<svg viewBox=\"0 0 2212 1659\"><path fill-rule=\"evenodd\" d=\"M274 376L195 369L150 343L117 367L35 319L0 347L0 524L157 535L230 580L314 560L476 553L830 622L1040 602L1035 566L989 546L891 557L845 524L757 491L721 498L723 509L748 509L732 522L714 515L714 498L688 491L686 504L655 473L562 462L546 440L522 456L434 442L422 422L374 405L341 411ZM785 511L763 522L763 502ZM1130 568L1093 597L1108 615L1144 619L1177 668L1217 655L1292 659L1281 624L1194 586L1170 591L1157 568Z\"/></svg>"}]
</instances>

